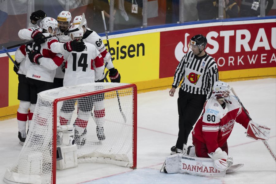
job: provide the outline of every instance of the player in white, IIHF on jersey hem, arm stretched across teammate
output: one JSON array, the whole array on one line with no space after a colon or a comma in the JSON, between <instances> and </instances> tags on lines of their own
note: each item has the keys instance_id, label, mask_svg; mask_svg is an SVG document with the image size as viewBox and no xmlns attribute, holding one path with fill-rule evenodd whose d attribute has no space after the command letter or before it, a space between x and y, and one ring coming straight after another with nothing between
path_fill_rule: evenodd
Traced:
<instances>
[{"instance_id":1,"label":"player in white, IIHF on jersey hem, arm stretched across teammate","mask_svg":"<svg viewBox=\"0 0 276 184\"><path fill-rule=\"evenodd\" d=\"M35 38L37 34L42 34L44 37L49 36L51 33L55 33L57 29L57 21L51 17L45 17L41 22L39 27L21 29L18 36L21 39L31 40ZM38 39L39 40L39 39ZM72 51L72 50L83 50L84 43L76 41L70 41L67 43L59 43L56 37L45 40L44 43L31 43L27 44L25 47L26 62L25 67L27 68L26 77L31 86L30 90L30 112L33 113L35 109L35 104L37 100L37 94L41 91L52 89L53 80L56 74L55 70L49 70L45 67L40 67L38 59L41 57L52 58L57 66L60 66L63 62L63 56L57 54L59 51ZM33 64L37 63L37 64Z\"/></svg>"}]
</instances>

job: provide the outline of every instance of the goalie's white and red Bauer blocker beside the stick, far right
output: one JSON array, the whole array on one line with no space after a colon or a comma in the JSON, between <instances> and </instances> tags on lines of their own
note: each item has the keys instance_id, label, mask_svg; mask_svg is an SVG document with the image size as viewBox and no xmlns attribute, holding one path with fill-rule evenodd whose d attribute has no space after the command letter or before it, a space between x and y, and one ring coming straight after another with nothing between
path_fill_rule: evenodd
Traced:
<instances>
[{"instance_id":1,"label":"goalie's white and red Bauer blocker beside the stick, far right","mask_svg":"<svg viewBox=\"0 0 276 184\"><path fill-rule=\"evenodd\" d=\"M246 131L246 136L255 140L268 140L270 134L270 128L265 125L259 125L254 121L249 121Z\"/></svg>"}]
</instances>

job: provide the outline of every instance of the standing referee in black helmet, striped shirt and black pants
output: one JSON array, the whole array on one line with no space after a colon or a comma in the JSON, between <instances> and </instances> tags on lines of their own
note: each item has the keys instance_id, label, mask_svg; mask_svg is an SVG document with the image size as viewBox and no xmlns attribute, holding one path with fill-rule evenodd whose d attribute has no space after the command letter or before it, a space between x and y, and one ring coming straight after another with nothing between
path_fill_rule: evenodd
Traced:
<instances>
[{"instance_id":1,"label":"standing referee in black helmet, striped shirt and black pants","mask_svg":"<svg viewBox=\"0 0 276 184\"><path fill-rule=\"evenodd\" d=\"M178 139L171 148L171 154L187 152L188 136L200 116L207 95L214 82L218 80L217 63L205 53L207 39L203 35L195 35L189 43L192 50L184 55L174 74L174 82L169 91L174 96L175 89L184 78L179 89L178 106Z\"/></svg>"}]
</instances>

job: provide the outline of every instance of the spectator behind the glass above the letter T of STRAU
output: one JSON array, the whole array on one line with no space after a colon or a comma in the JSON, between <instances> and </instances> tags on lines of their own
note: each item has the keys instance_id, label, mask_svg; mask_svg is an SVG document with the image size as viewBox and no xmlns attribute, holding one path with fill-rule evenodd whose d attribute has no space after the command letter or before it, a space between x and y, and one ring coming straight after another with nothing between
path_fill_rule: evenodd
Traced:
<instances>
[{"instance_id":1,"label":"spectator behind the glass above the letter T of STRAU","mask_svg":"<svg viewBox=\"0 0 276 184\"><path fill-rule=\"evenodd\" d=\"M223 18L237 18L239 17L240 7L234 0L224 0L223 3ZM218 14L219 0L216 1Z\"/></svg>"}]
</instances>

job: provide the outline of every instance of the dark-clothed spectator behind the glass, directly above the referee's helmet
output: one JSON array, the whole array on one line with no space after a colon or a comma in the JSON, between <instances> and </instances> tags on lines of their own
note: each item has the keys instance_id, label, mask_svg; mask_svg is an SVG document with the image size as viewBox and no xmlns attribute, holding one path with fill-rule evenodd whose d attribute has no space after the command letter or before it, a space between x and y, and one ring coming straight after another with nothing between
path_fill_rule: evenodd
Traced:
<instances>
[{"instance_id":1,"label":"dark-clothed spectator behind the glass, directly above the referee's helmet","mask_svg":"<svg viewBox=\"0 0 276 184\"><path fill-rule=\"evenodd\" d=\"M217 16L216 7L213 0L197 0L198 19L211 20Z\"/></svg>"}]
</instances>

